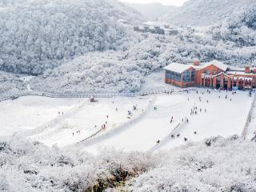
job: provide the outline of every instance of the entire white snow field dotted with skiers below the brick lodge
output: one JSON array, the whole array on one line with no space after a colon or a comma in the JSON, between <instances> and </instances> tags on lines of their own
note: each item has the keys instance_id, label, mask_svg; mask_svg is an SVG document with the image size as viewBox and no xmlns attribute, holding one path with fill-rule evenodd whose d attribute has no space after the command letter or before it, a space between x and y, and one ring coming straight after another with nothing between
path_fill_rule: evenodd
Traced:
<instances>
[{"instance_id":1,"label":"entire white snow field dotted with skiers below the brick lodge","mask_svg":"<svg viewBox=\"0 0 256 192\"><path fill-rule=\"evenodd\" d=\"M87 98L22 97L0 102L0 135L24 132L47 146L62 147L90 137L106 124L105 130L79 144L95 154L106 146L123 150L163 150L185 144L184 138L190 142L217 135L242 134L253 98L243 91L237 94L210 91L210 94L199 89L198 93L188 94L99 98L94 103ZM135 105L138 110L133 110ZM197 114L191 114L191 110ZM180 123L180 130L171 138L170 134ZM158 140L160 143L154 148Z\"/></svg>"}]
</instances>

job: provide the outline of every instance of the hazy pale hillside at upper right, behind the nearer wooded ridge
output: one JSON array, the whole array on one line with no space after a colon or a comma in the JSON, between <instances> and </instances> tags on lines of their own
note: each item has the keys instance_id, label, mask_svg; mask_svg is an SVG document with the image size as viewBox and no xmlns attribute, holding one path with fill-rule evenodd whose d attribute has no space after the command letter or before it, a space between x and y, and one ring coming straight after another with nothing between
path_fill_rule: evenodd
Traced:
<instances>
[{"instance_id":1,"label":"hazy pale hillside at upper right, behind the nearer wooded ridge","mask_svg":"<svg viewBox=\"0 0 256 192\"><path fill-rule=\"evenodd\" d=\"M254 0L190 0L162 20L177 26L210 26L237 13Z\"/></svg>"}]
</instances>

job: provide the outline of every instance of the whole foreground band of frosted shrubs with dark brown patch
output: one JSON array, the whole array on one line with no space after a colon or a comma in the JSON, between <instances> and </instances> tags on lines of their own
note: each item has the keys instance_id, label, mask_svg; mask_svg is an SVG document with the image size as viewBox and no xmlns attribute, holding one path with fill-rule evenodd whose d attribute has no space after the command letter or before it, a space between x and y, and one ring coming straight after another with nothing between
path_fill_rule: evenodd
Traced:
<instances>
[{"instance_id":1,"label":"whole foreground band of frosted shrubs with dark brown patch","mask_svg":"<svg viewBox=\"0 0 256 192\"><path fill-rule=\"evenodd\" d=\"M104 149L92 156L77 147L49 148L19 138L1 138L0 149L3 191L256 190L255 143L237 137L158 154Z\"/></svg>"}]
</instances>

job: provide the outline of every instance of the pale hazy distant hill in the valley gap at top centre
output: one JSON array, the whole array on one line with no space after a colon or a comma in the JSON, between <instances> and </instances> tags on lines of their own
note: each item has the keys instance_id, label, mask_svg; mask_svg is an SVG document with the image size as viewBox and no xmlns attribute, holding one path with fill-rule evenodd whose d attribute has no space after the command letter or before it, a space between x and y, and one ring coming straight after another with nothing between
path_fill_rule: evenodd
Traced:
<instances>
[{"instance_id":1,"label":"pale hazy distant hill in the valley gap at top centre","mask_svg":"<svg viewBox=\"0 0 256 192\"><path fill-rule=\"evenodd\" d=\"M164 6L159 2L150 4L126 3L126 5L134 8L134 10L137 10L150 21L155 21L158 18L162 18L177 8L176 6Z\"/></svg>"}]
</instances>

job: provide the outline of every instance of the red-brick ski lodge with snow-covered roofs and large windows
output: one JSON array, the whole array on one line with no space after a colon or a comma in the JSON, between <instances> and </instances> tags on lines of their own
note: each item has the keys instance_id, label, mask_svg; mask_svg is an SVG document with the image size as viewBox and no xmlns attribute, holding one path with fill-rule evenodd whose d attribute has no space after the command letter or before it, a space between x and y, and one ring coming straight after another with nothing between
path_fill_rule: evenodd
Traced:
<instances>
[{"instance_id":1,"label":"red-brick ski lodge with snow-covered roofs and large windows","mask_svg":"<svg viewBox=\"0 0 256 192\"><path fill-rule=\"evenodd\" d=\"M251 90L256 88L256 68L232 69L214 60L201 64L171 63L164 68L165 82L182 88L190 86L223 88L227 90Z\"/></svg>"}]
</instances>

